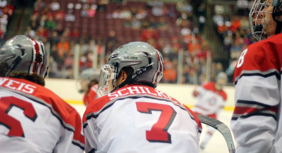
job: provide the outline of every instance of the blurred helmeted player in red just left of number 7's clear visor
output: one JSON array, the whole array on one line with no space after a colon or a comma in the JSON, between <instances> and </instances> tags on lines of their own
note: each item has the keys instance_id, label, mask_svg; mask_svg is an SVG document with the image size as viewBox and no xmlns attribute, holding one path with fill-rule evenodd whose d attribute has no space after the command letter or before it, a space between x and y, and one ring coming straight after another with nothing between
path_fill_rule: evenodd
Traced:
<instances>
[{"instance_id":1,"label":"blurred helmeted player in red just left of number 7's clear visor","mask_svg":"<svg viewBox=\"0 0 282 153\"><path fill-rule=\"evenodd\" d=\"M83 97L85 106L88 106L91 101L97 98L96 91L98 89L99 77L100 72L92 68L85 69L81 72L80 85L81 91L85 92L85 95Z\"/></svg>"}]
</instances>

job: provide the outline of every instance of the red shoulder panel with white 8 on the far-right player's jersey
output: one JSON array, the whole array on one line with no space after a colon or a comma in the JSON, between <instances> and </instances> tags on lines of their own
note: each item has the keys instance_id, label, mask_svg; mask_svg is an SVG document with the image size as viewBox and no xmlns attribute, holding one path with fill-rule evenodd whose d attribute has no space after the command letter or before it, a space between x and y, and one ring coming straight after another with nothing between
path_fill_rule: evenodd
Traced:
<instances>
[{"instance_id":1,"label":"red shoulder panel with white 8 on the far-right player's jersey","mask_svg":"<svg viewBox=\"0 0 282 153\"><path fill-rule=\"evenodd\" d=\"M280 72L282 34L249 45L241 54L233 75L233 82L243 73L260 73L269 70Z\"/></svg>"}]
</instances>

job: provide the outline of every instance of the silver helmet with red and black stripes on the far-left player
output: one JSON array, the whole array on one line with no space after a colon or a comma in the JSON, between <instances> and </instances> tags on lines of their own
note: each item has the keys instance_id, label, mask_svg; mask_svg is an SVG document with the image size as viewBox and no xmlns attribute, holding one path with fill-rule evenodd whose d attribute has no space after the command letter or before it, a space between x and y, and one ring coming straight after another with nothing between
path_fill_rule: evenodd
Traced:
<instances>
[{"instance_id":1,"label":"silver helmet with red and black stripes on the far-left player","mask_svg":"<svg viewBox=\"0 0 282 153\"><path fill-rule=\"evenodd\" d=\"M18 35L0 48L0 65L5 65L5 76L12 71L22 71L46 77L47 52L41 41Z\"/></svg>"}]
</instances>

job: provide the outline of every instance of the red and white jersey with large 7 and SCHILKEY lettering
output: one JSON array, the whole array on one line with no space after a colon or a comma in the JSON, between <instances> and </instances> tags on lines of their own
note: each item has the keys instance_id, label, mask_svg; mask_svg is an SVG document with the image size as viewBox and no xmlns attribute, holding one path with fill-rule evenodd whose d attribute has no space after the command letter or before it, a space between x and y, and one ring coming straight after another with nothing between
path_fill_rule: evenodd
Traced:
<instances>
[{"instance_id":1,"label":"red and white jersey with large 7 and SCHILKEY lettering","mask_svg":"<svg viewBox=\"0 0 282 153\"><path fill-rule=\"evenodd\" d=\"M82 120L86 153L199 152L198 117L148 86L125 86L94 100Z\"/></svg>"}]
</instances>

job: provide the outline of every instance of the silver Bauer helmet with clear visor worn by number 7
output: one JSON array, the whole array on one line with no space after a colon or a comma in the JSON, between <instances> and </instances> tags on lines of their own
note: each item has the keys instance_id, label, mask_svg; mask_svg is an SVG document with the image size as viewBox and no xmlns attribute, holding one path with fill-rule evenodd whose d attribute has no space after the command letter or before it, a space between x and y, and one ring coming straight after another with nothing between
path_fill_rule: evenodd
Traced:
<instances>
[{"instance_id":1,"label":"silver Bauer helmet with clear visor worn by number 7","mask_svg":"<svg viewBox=\"0 0 282 153\"><path fill-rule=\"evenodd\" d=\"M115 78L124 67L132 67L133 74L116 86ZM147 83L155 88L162 76L163 57L160 52L146 42L129 42L114 50L107 64L102 66L97 93L104 96L111 92L109 84L115 91L132 81Z\"/></svg>"}]
</instances>

